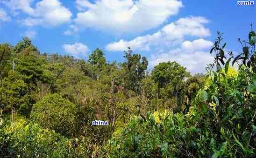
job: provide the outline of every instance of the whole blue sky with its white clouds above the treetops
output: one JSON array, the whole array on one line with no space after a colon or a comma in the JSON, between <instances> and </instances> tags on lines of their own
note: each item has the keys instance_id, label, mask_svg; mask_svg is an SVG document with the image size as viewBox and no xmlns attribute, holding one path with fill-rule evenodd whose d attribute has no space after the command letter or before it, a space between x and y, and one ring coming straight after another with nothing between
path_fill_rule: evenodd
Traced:
<instances>
[{"instance_id":1,"label":"whole blue sky with its white clouds above the treetops","mask_svg":"<svg viewBox=\"0 0 256 158\"><path fill-rule=\"evenodd\" d=\"M123 61L130 46L150 68L175 60L194 74L212 62L217 31L239 52L255 15L235 0L0 0L0 43L29 37L41 53L80 59L100 48L107 61Z\"/></svg>"}]
</instances>

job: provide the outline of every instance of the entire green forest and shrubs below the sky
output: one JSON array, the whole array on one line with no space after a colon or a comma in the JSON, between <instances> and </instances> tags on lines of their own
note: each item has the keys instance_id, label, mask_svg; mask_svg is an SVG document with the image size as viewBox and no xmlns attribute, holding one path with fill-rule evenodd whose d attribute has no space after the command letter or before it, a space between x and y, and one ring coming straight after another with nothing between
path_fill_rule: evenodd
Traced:
<instances>
[{"instance_id":1,"label":"entire green forest and shrubs below the sky","mask_svg":"<svg viewBox=\"0 0 256 158\"><path fill-rule=\"evenodd\" d=\"M196 75L175 61L149 70L130 47L118 63L0 44L0 157L255 158L256 33L239 53L224 36Z\"/></svg>"}]
</instances>

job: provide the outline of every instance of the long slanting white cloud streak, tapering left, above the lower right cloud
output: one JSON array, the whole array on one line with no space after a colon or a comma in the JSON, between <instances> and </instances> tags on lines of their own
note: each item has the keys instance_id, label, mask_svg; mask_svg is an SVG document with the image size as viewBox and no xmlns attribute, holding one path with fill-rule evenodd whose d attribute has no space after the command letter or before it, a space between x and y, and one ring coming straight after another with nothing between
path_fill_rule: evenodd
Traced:
<instances>
[{"instance_id":1,"label":"long slanting white cloud streak, tapering left, above the lower right cloud","mask_svg":"<svg viewBox=\"0 0 256 158\"><path fill-rule=\"evenodd\" d=\"M118 42L110 43L106 46L108 51L123 51L128 46L133 50L149 51L151 46L174 46L182 42L186 36L193 37L207 37L210 35L210 30L205 28L203 24L208 23L204 17L186 17L181 18L164 26L161 30L154 34L137 37L134 40L126 41L120 40ZM201 41L193 41L199 42ZM208 46L209 43L203 43ZM184 43L184 47L192 47L193 43Z\"/></svg>"}]
</instances>

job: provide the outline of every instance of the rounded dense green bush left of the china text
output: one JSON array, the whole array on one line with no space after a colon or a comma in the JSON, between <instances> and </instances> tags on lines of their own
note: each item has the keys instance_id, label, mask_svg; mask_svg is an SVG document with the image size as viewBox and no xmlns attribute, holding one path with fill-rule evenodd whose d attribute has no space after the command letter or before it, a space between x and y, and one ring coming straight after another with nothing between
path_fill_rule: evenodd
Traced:
<instances>
[{"instance_id":1,"label":"rounded dense green bush left of the china text","mask_svg":"<svg viewBox=\"0 0 256 158\"><path fill-rule=\"evenodd\" d=\"M50 94L33 105L30 118L44 128L64 135L75 133L76 107L58 94Z\"/></svg>"}]
</instances>

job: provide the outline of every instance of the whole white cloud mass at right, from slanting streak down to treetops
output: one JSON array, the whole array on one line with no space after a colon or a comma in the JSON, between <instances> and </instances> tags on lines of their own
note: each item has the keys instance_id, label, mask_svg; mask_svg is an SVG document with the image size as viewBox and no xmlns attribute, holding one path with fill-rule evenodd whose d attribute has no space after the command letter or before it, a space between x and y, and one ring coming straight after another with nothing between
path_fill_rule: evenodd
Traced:
<instances>
[{"instance_id":1,"label":"whole white cloud mass at right, from slanting streak down to treetops","mask_svg":"<svg viewBox=\"0 0 256 158\"><path fill-rule=\"evenodd\" d=\"M151 68L160 62L176 61L192 74L205 72L206 64L213 62L213 57L208 53L213 42L203 39L210 36L210 30L204 26L208 22L204 17L181 18L156 33L129 41L112 42L106 46L106 50L123 51L129 46L133 50L153 52L149 57Z\"/></svg>"}]
</instances>

